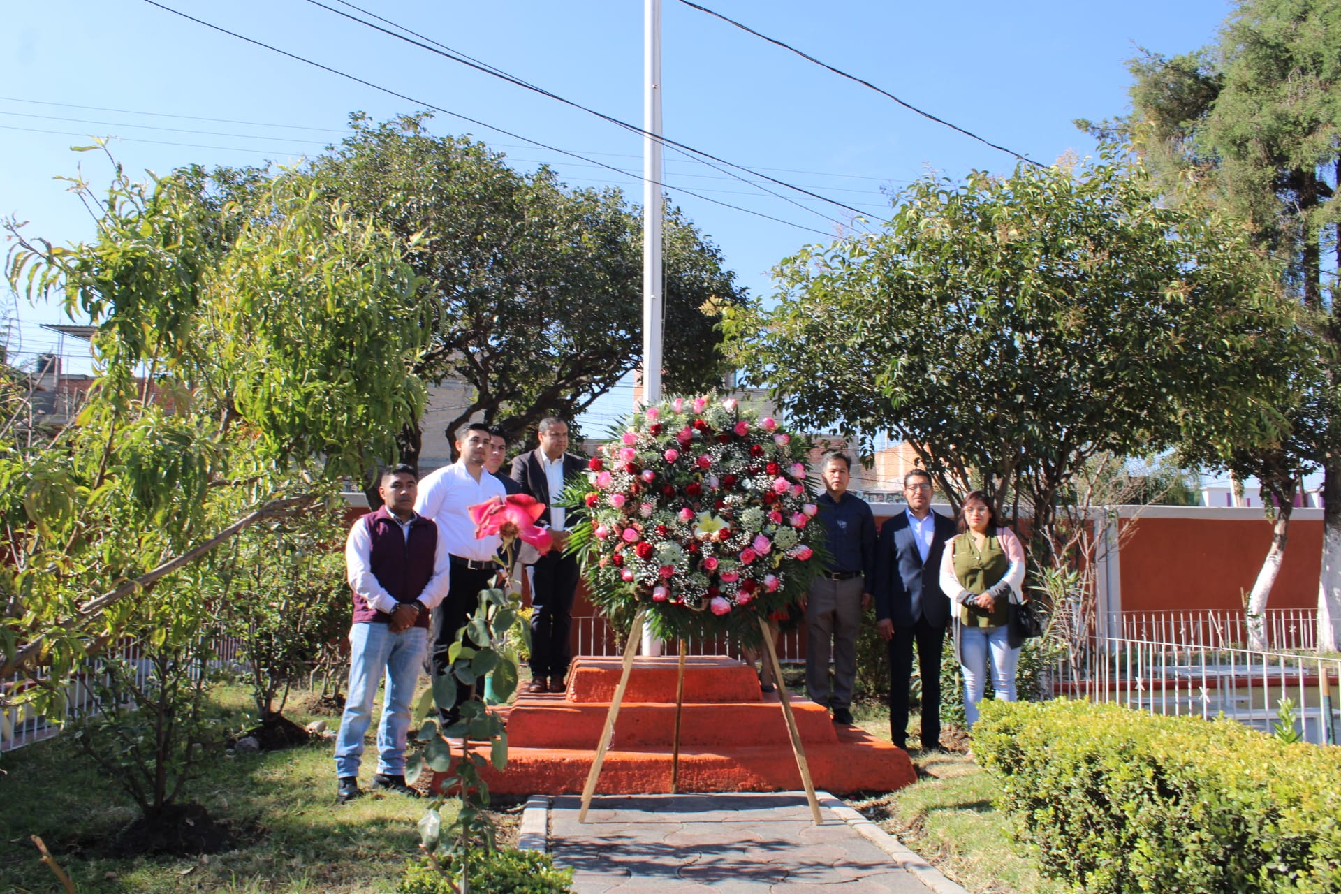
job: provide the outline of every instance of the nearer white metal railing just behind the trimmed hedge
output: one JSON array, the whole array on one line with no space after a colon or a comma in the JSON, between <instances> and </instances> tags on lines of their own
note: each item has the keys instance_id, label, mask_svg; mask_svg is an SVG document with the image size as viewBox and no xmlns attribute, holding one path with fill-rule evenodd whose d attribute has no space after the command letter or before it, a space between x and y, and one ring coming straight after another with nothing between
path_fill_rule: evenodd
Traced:
<instances>
[{"instance_id":1,"label":"nearer white metal railing just behind the trimmed hedge","mask_svg":"<svg viewBox=\"0 0 1341 894\"><path fill-rule=\"evenodd\" d=\"M1081 667L1057 669L1061 696L1152 714L1220 714L1273 732L1282 702L1306 741L1338 744L1341 658L1206 643L1100 637Z\"/></svg>"}]
</instances>

